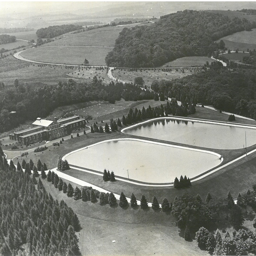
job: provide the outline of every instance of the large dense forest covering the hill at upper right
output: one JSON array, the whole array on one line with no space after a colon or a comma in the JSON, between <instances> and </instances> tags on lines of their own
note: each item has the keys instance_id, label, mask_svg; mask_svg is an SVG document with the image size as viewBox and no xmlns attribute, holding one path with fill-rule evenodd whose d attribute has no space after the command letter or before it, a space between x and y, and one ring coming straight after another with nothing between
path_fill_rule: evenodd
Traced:
<instances>
[{"instance_id":1,"label":"large dense forest covering the hill at upper right","mask_svg":"<svg viewBox=\"0 0 256 256\"><path fill-rule=\"evenodd\" d=\"M207 56L217 49L215 40L251 28L256 24L246 18L179 11L150 26L124 28L105 60L110 67L159 67L180 57Z\"/></svg>"}]
</instances>

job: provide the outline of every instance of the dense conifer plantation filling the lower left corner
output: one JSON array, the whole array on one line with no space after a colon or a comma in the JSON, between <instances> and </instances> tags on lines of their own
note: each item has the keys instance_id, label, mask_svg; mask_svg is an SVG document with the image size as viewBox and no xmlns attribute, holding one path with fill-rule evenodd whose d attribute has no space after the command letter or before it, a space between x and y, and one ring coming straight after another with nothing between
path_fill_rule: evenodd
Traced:
<instances>
[{"instance_id":1,"label":"dense conifer plantation filling the lower left corner","mask_svg":"<svg viewBox=\"0 0 256 256\"><path fill-rule=\"evenodd\" d=\"M0 255L81 255L72 208L2 156L0 180Z\"/></svg>"}]
</instances>

